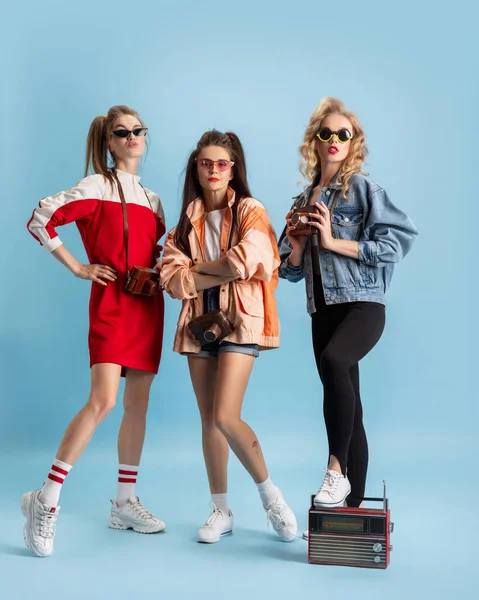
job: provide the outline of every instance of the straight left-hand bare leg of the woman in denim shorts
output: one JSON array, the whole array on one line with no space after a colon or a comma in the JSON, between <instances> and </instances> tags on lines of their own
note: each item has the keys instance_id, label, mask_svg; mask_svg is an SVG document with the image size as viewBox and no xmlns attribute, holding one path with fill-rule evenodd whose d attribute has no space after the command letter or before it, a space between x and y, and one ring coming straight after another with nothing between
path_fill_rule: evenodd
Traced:
<instances>
[{"instance_id":1,"label":"straight left-hand bare leg of the woman in denim shorts","mask_svg":"<svg viewBox=\"0 0 479 600\"><path fill-rule=\"evenodd\" d=\"M214 398L218 375L217 358L188 357L191 381L201 416L203 456L212 494L227 492L228 443L216 427Z\"/></svg>"}]
</instances>

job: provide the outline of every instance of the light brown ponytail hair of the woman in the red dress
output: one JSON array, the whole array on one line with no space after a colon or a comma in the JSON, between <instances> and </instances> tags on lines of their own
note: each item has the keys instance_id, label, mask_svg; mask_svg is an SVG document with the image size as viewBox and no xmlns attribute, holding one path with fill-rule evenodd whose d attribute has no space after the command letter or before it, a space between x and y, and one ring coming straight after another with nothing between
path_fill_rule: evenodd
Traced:
<instances>
[{"instance_id":1,"label":"light brown ponytail hair of the woman in the red dress","mask_svg":"<svg viewBox=\"0 0 479 600\"><path fill-rule=\"evenodd\" d=\"M116 179L115 173L112 172L112 168L115 168L115 157L110 155L113 161L113 165L110 167L108 165L108 140L115 120L122 115L136 117L141 126L145 126L136 110L122 104L112 106L104 116L95 117L90 125L86 141L85 177L91 168L94 173L103 175L113 185L113 181Z\"/></svg>"}]
</instances>

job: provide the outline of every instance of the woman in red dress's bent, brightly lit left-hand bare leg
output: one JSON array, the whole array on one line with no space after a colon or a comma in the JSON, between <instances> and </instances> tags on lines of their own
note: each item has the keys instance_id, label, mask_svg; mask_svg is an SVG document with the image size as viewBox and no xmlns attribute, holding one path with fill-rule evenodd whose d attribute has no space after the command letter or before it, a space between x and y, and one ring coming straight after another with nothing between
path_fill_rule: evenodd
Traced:
<instances>
[{"instance_id":1,"label":"woman in red dress's bent, brightly lit left-hand bare leg","mask_svg":"<svg viewBox=\"0 0 479 600\"><path fill-rule=\"evenodd\" d=\"M56 454L57 458L70 465L75 464L96 427L115 406L120 376L120 365L112 363L93 365L90 397L68 425Z\"/></svg>"}]
</instances>

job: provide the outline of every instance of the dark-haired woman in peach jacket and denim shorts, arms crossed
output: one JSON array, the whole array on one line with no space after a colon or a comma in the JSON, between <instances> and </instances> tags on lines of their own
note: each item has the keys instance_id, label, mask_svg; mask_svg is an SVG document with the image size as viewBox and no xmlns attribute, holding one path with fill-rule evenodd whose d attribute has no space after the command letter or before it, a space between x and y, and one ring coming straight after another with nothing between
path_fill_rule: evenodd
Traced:
<instances>
[{"instance_id":1,"label":"dark-haired woman in peach jacket and denim shorts, arms crossed","mask_svg":"<svg viewBox=\"0 0 479 600\"><path fill-rule=\"evenodd\" d=\"M233 531L229 448L257 484L280 538L296 536L296 518L268 475L255 433L241 419L255 357L279 346L278 265L276 236L263 205L251 197L240 140L207 131L188 160L180 220L167 237L161 266L166 291L183 301L174 350L188 357L202 422L213 512L199 542L218 542ZM227 314L233 331L201 345L188 324L216 309Z\"/></svg>"}]
</instances>

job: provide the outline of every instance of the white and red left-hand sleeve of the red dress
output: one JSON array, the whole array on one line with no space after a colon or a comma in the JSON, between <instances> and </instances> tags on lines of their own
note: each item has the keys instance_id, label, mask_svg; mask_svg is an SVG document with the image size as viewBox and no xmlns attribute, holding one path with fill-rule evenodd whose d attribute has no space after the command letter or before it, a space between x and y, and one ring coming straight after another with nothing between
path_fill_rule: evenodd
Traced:
<instances>
[{"instance_id":1,"label":"white and red left-hand sleeve of the red dress","mask_svg":"<svg viewBox=\"0 0 479 600\"><path fill-rule=\"evenodd\" d=\"M91 175L75 187L43 198L27 224L28 231L48 252L62 245L56 228L74 221L88 221L102 200L105 180Z\"/></svg>"}]
</instances>

